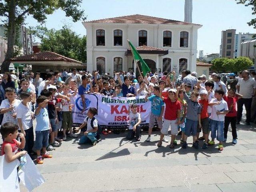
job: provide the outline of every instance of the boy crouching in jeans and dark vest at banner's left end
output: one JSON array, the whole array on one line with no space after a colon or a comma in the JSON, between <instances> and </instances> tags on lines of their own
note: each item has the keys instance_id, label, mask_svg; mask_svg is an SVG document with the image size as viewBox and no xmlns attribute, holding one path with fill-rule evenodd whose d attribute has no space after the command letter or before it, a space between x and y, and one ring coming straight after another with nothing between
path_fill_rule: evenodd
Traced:
<instances>
[{"instance_id":1,"label":"boy crouching in jeans and dark vest at banner's left end","mask_svg":"<svg viewBox=\"0 0 256 192\"><path fill-rule=\"evenodd\" d=\"M94 117L97 114L96 108L89 108L87 112L87 116L84 119L84 123L78 128L78 130L82 129L84 126L87 125L87 130L84 132L84 135L80 138L79 144L84 144L88 142L92 142L92 146L96 145L97 143L97 131L98 131L98 120ZM93 121L93 122L91 122Z\"/></svg>"}]
</instances>

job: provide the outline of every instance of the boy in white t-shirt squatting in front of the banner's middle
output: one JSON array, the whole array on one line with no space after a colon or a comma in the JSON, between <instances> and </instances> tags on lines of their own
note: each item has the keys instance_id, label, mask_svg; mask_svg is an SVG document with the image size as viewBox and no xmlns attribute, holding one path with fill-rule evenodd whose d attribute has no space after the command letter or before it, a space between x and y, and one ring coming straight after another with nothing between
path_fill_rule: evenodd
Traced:
<instances>
[{"instance_id":1,"label":"boy in white t-shirt squatting in front of the banner's middle","mask_svg":"<svg viewBox=\"0 0 256 192\"><path fill-rule=\"evenodd\" d=\"M128 108L129 113L129 119L130 119L130 125L129 125L129 131L126 136L127 140L132 140L134 136L136 135L136 140L140 141L140 113L137 112L138 106L136 104L131 104Z\"/></svg>"}]
</instances>

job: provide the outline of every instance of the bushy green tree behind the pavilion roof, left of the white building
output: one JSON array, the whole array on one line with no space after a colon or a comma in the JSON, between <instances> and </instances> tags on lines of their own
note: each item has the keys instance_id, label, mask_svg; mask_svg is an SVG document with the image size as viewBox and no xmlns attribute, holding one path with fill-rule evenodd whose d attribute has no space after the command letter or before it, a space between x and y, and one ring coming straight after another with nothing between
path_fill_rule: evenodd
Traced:
<instances>
[{"instance_id":1,"label":"bushy green tree behind the pavilion roof, left of the white building","mask_svg":"<svg viewBox=\"0 0 256 192\"><path fill-rule=\"evenodd\" d=\"M31 28L41 40L41 51L51 51L63 56L86 62L86 36L80 37L67 25L62 29L47 29L43 26Z\"/></svg>"}]
</instances>

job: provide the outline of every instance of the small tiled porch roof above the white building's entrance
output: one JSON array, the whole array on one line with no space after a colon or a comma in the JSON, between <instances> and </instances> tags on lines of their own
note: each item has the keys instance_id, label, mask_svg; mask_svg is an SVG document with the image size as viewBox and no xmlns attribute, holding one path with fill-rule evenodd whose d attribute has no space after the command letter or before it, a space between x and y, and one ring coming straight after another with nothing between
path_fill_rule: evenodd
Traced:
<instances>
[{"instance_id":1,"label":"small tiled porch roof above the white building's entrance","mask_svg":"<svg viewBox=\"0 0 256 192\"><path fill-rule=\"evenodd\" d=\"M135 48L138 53L140 54L159 54L160 56L168 54L168 50L156 48L156 47L150 47L150 46L138 46ZM131 55L131 49L127 49L126 55Z\"/></svg>"}]
</instances>

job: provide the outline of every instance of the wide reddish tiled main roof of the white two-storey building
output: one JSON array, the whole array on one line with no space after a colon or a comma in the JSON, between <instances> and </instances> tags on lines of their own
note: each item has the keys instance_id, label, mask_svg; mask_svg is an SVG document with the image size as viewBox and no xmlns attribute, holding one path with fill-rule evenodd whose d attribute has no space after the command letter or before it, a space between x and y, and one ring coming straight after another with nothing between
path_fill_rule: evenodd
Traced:
<instances>
[{"instance_id":1,"label":"wide reddish tiled main roof of the white two-storey building","mask_svg":"<svg viewBox=\"0 0 256 192\"><path fill-rule=\"evenodd\" d=\"M86 21L85 23L130 23L130 24L140 23L140 24L173 24L173 25L199 25L200 26L200 24L146 16L146 15L140 15L140 14L92 20L92 21Z\"/></svg>"}]
</instances>

